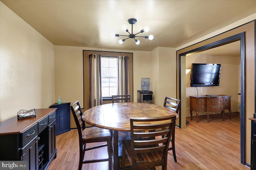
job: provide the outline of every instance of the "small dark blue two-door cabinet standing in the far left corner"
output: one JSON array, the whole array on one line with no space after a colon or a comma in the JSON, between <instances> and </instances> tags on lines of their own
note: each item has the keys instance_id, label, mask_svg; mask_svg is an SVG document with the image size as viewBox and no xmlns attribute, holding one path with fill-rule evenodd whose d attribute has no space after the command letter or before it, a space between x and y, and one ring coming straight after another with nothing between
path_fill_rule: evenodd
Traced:
<instances>
[{"instance_id":1,"label":"small dark blue two-door cabinet standing in the far left corner","mask_svg":"<svg viewBox=\"0 0 256 170\"><path fill-rule=\"evenodd\" d=\"M56 110L56 135L70 131L70 103L53 104Z\"/></svg>"}]
</instances>

